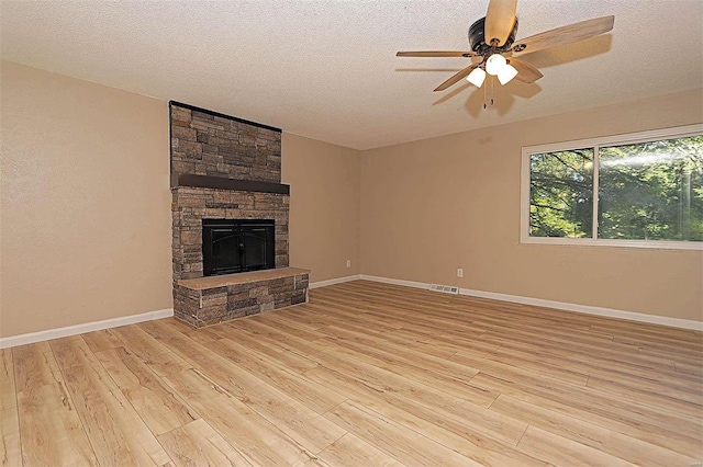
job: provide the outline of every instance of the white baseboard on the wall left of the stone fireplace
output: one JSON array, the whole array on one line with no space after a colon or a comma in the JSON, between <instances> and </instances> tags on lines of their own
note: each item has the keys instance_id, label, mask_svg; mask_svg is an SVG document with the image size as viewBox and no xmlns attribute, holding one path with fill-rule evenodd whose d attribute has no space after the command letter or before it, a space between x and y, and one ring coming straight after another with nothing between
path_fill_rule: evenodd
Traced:
<instances>
[{"instance_id":1,"label":"white baseboard on the wall left of the stone fireplace","mask_svg":"<svg viewBox=\"0 0 703 467\"><path fill-rule=\"evenodd\" d=\"M147 311L141 315L130 315L120 318L104 319L102 321L67 326L65 328L47 329L46 331L30 332L27 334L11 335L9 338L0 338L0 349L32 344L34 342L48 341L51 339L67 338L69 335L82 334L83 332L100 331L101 329L118 328L120 326L152 321L171 316L174 316L174 309L167 308L163 310Z\"/></svg>"}]
</instances>

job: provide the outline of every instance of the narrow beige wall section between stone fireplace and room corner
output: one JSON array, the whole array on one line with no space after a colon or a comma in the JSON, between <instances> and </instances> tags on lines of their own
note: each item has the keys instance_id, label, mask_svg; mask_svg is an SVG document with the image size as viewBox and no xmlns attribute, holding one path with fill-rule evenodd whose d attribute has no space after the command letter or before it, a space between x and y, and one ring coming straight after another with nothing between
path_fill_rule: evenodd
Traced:
<instances>
[{"instance_id":1,"label":"narrow beige wall section between stone fireplace and room corner","mask_svg":"<svg viewBox=\"0 0 703 467\"><path fill-rule=\"evenodd\" d=\"M311 269L312 282L358 274L359 151L283 133L282 152L290 265Z\"/></svg>"}]
</instances>

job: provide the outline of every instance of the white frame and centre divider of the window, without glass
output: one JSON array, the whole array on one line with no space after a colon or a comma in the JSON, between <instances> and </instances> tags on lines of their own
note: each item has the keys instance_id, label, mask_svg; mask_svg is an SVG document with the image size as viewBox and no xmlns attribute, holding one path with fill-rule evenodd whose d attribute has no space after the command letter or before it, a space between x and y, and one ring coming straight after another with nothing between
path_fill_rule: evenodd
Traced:
<instances>
[{"instance_id":1,"label":"white frame and centre divider of the window, without glass","mask_svg":"<svg viewBox=\"0 0 703 467\"><path fill-rule=\"evenodd\" d=\"M536 153L566 151L573 149L593 148L593 235L598 235L598 183L599 183L599 149L601 146L620 146L648 143L659 139L684 138L703 134L703 124L678 126L674 128L655 129L649 132L629 133L624 135L600 138L579 139L573 141L554 143L539 146L524 146L522 148L521 174L521 206L520 206L520 242L538 244L574 244L580 247L627 247L656 248L665 250L703 250L703 241L672 241L672 240L613 240L593 238L568 237L531 237L529 236L529 169L531 157Z\"/></svg>"}]
</instances>

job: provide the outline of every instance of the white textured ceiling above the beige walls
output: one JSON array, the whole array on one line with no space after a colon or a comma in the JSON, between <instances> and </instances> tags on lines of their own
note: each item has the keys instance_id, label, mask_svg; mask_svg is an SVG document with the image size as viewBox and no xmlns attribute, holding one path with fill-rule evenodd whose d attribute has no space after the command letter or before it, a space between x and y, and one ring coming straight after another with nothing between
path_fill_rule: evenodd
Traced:
<instances>
[{"instance_id":1,"label":"white textured ceiling above the beige walls","mask_svg":"<svg viewBox=\"0 0 703 467\"><path fill-rule=\"evenodd\" d=\"M615 15L612 33L525 55L544 78L432 92L482 1L0 1L1 58L356 149L703 86L701 0L521 0L526 37ZM703 103L702 103L703 105Z\"/></svg>"}]
</instances>

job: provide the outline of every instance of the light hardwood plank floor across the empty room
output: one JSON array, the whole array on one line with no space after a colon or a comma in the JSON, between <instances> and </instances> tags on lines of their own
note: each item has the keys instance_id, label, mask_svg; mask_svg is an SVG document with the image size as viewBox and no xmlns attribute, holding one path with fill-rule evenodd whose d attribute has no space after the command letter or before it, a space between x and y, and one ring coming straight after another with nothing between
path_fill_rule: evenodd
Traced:
<instances>
[{"instance_id":1,"label":"light hardwood plank floor across the empty room","mask_svg":"<svg viewBox=\"0 0 703 467\"><path fill-rule=\"evenodd\" d=\"M1 351L3 465L703 460L703 333L354 282Z\"/></svg>"}]
</instances>

